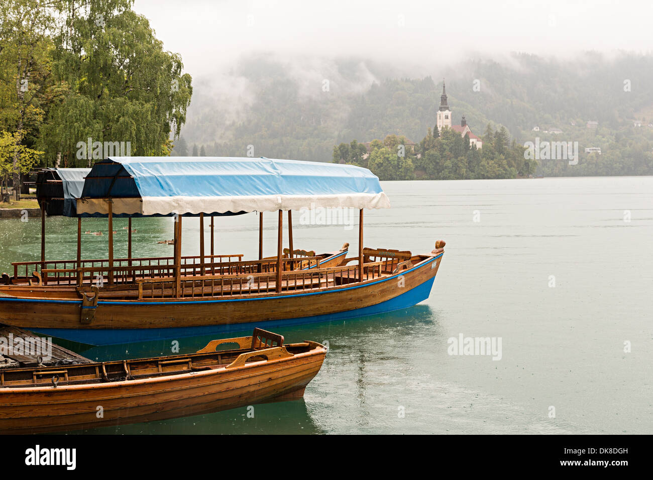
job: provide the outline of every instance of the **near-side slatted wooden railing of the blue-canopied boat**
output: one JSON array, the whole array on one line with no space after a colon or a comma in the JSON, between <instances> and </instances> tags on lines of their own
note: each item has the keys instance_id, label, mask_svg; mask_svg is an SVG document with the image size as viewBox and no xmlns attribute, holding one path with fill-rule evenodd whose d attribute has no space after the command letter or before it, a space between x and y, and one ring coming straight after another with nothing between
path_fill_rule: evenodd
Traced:
<instances>
[{"instance_id":1,"label":"near-side slatted wooden railing of the blue-canopied boat","mask_svg":"<svg viewBox=\"0 0 653 480\"><path fill-rule=\"evenodd\" d=\"M383 275L383 262L363 265L362 280L372 280ZM166 297L215 297L232 295L257 295L276 291L276 274L249 275L206 275L182 278L179 282L180 295L176 292L174 278L144 278L136 280L138 298ZM355 283L358 278L358 265L343 265L310 270L289 270L281 272L281 291L304 291L319 289L345 283Z\"/></svg>"}]
</instances>

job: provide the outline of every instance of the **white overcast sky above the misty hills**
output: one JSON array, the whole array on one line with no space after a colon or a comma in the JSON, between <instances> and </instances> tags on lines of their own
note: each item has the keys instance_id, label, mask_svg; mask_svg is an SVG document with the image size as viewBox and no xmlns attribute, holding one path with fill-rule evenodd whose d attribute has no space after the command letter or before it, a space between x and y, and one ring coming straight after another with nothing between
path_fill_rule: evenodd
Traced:
<instances>
[{"instance_id":1,"label":"white overcast sky above the misty hills","mask_svg":"<svg viewBox=\"0 0 653 480\"><path fill-rule=\"evenodd\" d=\"M136 0L194 75L244 54L450 62L509 52L653 51L653 2Z\"/></svg>"}]
</instances>

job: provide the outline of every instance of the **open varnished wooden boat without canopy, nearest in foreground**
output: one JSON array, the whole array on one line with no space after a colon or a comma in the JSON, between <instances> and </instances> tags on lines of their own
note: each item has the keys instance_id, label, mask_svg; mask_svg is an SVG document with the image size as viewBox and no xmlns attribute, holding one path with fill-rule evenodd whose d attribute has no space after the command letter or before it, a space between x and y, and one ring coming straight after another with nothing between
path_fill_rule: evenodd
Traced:
<instances>
[{"instance_id":1,"label":"open varnished wooden boat without canopy, nearest in foreground","mask_svg":"<svg viewBox=\"0 0 653 480\"><path fill-rule=\"evenodd\" d=\"M238 348L218 350L225 344ZM187 417L301 398L327 349L252 336L190 355L0 371L0 434L44 433Z\"/></svg>"}]
</instances>

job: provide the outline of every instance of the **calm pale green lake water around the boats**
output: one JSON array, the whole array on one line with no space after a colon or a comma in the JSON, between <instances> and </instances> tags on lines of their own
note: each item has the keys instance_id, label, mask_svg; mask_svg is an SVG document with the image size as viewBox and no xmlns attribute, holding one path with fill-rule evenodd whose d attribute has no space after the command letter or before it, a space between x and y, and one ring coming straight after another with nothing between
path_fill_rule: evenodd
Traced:
<instances>
[{"instance_id":1,"label":"calm pale green lake water around the boats","mask_svg":"<svg viewBox=\"0 0 653 480\"><path fill-rule=\"evenodd\" d=\"M430 298L400 312L276 328L328 341L304 400L98 433L653 433L653 177L383 182L392 209L366 212L367 247L428 253L447 242ZM295 248L328 251L357 226L302 225ZM126 251L117 220L116 256ZM208 222L206 222L208 241ZM266 255L276 253L267 214ZM134 255L172 255L171 219L135 219ZM106 221L84 220L84 257L106 258ZM216 219L216 253L257 255L255 214ZM39 220L0 220L0 271L37 260ZM183 221L184 254L199 251ZM47 257L75 257L76 221L48 219ZM0 320L1 321L1 320ZM449 355L449 338L502 341L500 360ZM180 340L182 353L211 338ZM629 344L625 343L629 342ZM63 344L63 342L61 342ZM630 351L624 351L630 345ZM67 346L70 346L67 344ZM74 347L78 348L79 345ZM99 360L170 353L170 342L93 347ZM555 416L552 417L552 408Z\"/></svg>"}]
</instances>

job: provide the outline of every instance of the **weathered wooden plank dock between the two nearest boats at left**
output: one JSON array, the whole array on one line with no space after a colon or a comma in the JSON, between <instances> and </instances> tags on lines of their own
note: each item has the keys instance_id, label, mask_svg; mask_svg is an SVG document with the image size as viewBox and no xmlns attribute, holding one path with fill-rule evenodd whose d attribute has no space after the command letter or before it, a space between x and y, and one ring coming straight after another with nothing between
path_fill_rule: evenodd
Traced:
<instances>
[{"instance_id":1,"label":"weathered wooden plank dock between the two nearest boats at left","mask_svg":"<svg viewBox=\"0 0 653 480\"><path fill-rule=\"evenodd\" d=\"M82 357L82 355L74 353L73 351L54 343L48 345L48 355L37 355L37 353L27 351L27 349L20 352L14 352L11 349L8 349L7 346L14 345L14 340L17 338L35 339L43 337L40 337L29 330L23 330L22 328L11 327L0 323L0 339L3 341L0 344L0 370L5 370L7 368L29 368L36 366L55 366L92 362L92 360ZM52 348L51 352L49 351L50 348Z\"/></svg>"}]
</instances>

